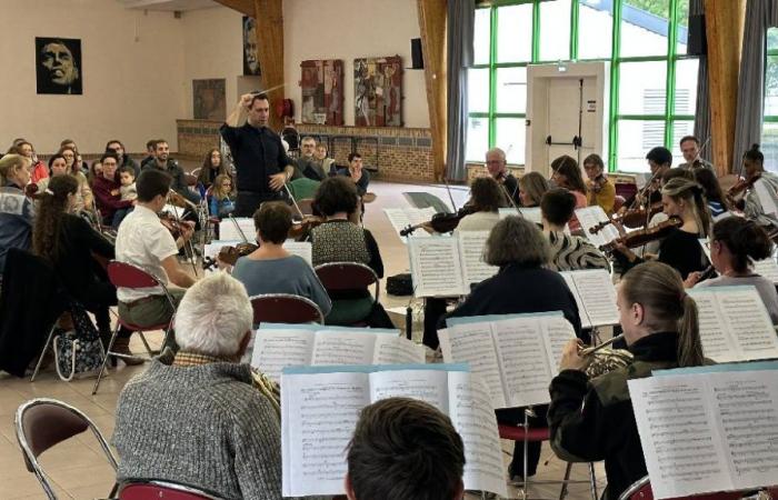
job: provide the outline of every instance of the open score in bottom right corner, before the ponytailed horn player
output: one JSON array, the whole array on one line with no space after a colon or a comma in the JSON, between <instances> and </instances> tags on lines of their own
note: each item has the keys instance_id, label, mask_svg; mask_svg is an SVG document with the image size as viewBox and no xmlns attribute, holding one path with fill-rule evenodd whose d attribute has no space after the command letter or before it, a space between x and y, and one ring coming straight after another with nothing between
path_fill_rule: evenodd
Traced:
<instances>
[{"instance_id":1,"label":"open score in bottom right corner, before the ponytailed horn player","mask_svg":"<svg viewBox=\"0 0 778 500\"><path fill-rule=\"evenodd\" d=\"M628 381L655 498L778 483L778 363L755 364Z\"/></svg>"}]
</instances>

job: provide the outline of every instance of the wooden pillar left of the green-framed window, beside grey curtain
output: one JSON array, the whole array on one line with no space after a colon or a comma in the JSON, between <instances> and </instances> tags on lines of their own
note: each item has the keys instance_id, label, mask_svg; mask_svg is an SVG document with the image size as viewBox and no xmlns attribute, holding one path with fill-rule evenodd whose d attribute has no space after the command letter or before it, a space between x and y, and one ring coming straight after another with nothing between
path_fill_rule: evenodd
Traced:
<instances>
[{"instance_id":1,"label":"wooden pillar left of the green-framed window, beside grey curtain","mask_svg":"<svg viewBox=\"0 0 778 500\"><path fill-rule=\"evenodd\" d=\"M417 0L421 50L425 56L427 108L432 134L432 164L436 180L446 173L447 82L446 18L447 0Z\"/></svg>"}]
</instances>

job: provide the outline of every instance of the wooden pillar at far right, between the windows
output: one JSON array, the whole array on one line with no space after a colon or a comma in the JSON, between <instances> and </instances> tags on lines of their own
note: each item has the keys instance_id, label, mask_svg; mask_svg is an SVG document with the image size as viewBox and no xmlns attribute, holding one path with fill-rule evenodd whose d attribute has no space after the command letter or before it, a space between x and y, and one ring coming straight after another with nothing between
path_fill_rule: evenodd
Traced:
<instances>
[{"instance_id":1,"label":"wooden pillar at far right, between the windows","mask_svg":"<svg viewBox=\"0 0 778 500\"><path fill-rule=\"evenodd\" d=\"M705 20L712 161L718 176L721 177L731 173L737 167L731 164L731 159L735 149L735 117L746 0L705 0Z\"/></svg>"}]
</instances>

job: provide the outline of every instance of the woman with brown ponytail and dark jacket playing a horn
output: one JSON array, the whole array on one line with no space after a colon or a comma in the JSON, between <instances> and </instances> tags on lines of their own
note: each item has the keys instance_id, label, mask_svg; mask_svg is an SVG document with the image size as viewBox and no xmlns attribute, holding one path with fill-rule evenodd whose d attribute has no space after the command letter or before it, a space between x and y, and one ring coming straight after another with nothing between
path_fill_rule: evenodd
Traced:
<instances>
[{"instance_id":1,"label":"woman with brown ponytail and dark jacket playing a horn","mask_svg":"<svg viewBox=\"0 0 778 500\"><path fill-rule=\"evenodd\" d=\"M551 448L562 460L605 460L605 500L618 499L647 474L627 380L704 362L697 304L676 270L661 262L631 269L621 279L617 303L635 361L588 380L584 370L591 358L581 358L580 343L571 340L549 389Z\"/></svg>"}]
</instances>

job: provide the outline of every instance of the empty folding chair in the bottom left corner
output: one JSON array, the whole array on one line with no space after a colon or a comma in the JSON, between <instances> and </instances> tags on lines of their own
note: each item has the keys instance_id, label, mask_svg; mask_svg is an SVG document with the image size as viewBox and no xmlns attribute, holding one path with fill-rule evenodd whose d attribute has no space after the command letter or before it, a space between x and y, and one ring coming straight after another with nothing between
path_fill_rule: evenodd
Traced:
<instances>
[{"instance_id":1,"label":"empty folding chair in the bottom left corner","mask_svg":"<svg viewBox=\"0 0 778 500\"><path fill-rule=\"evenodd\" d=\"M24 457L24 466L28 471L36 474L49 499L57 499L57 496L49 478L38 463L38 457L54 444L80 434L87 429L94 434L113 470L118 468L117 460L100 429L82 411L62 401L38 398L22 403L17 409L14 426L17 440ZM116 490L114 483L108 498L112 498Z\"/></svg>"}]
</instances>

